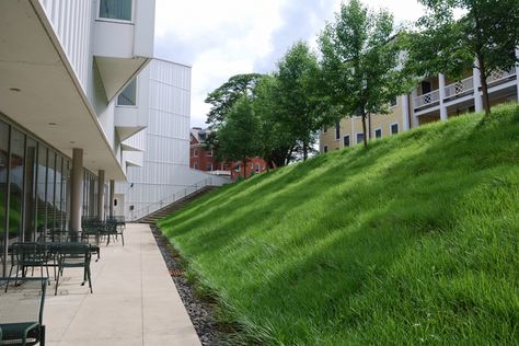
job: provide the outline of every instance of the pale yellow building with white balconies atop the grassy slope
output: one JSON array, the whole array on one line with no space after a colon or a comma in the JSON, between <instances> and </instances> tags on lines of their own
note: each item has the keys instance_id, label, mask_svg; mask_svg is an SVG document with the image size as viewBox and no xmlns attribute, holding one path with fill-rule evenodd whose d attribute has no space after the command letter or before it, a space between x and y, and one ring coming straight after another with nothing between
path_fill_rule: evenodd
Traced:
<instances>
[{"instance_id":1,"label":"pale yellow building with white balconies atop the grassy slope","mask_svg":"<svg viewBox=\"0 0 519 346\"><path fill-rule=\"evenodd\" d=\"M516 49L519 57L519 49ZM492 73L488 78L491 105L519 100L519 66ZM468 112L483 111L478 69L468 71L461 81L440 73L422 81L411 94L396 97L385 115L372 115L370 139L392 136L410 128L447 120ZM320 134L320 151L353 147L364 140L360 117L345 117Z\"/></svg>"}]
</instances>

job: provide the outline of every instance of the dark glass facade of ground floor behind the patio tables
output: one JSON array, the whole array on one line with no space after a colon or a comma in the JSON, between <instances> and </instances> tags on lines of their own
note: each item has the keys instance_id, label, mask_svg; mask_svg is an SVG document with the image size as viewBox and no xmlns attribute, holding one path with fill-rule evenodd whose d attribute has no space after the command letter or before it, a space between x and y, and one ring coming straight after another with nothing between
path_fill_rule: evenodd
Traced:
<instances>
[{"instance_id":1,"label":"dark glass facade of ground floor behind the patio tables","mask_svg":"<svg viewBox=\"0 0 519 346\"><path fill-rule=\"evenodd\" d=\"M72 162L0 120L0 276L10 247L70 221ZM83 217L96 217L97 177L84 170Z\"/></svg>"}]
</instances>

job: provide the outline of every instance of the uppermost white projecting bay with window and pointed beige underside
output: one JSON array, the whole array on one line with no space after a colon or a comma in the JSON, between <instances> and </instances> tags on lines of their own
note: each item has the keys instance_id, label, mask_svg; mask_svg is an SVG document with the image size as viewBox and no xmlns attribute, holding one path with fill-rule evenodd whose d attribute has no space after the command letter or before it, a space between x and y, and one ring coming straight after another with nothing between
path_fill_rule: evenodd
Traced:
<instances>
[{"instance_id":1,"label":"uppermost white projecting bay with window and pointed beige underside","mask_svg":"<svg viewBox=\"0 0 519 346\"><path fill-rule=\"evenodd\" d=\"M99 1L93 55L112 101L153 56L154 0Z\"/></svg>"}]
</instances>

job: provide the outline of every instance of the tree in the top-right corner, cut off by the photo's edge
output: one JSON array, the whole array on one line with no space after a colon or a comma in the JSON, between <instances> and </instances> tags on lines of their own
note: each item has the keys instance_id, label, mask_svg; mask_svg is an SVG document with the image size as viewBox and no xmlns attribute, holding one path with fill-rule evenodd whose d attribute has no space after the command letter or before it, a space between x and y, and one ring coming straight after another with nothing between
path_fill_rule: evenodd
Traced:
<instances>
[{"instance_id":1,"label":"tree in the top-right corner, cut off by the photo's edge","mask_svg":"<svg viewBox=\"0 0 519 346\"><path fill-rule=\"evenodd\" d=\"M420 0L428 13L410 36L410 61L418 76L439 72L460 78L477 68L483 107L491 114L487 79L517 60L519 3L517 0ZM454 12L463 12L455 20ZM476 62L476 64L474 64Z\"/></svg>"}]
</instances>

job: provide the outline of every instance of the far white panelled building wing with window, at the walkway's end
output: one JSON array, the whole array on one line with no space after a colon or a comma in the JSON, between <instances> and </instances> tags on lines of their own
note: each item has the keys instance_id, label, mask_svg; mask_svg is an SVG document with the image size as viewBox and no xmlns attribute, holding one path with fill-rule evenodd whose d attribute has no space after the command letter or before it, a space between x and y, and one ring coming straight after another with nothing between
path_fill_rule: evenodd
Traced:
<instances>
[{"instance_id":1,"label":"far white panelled building wing with window, at the walkway's end","mask_svg":"<svg viewBox=\"0 0 519 346\"><path fill-rule=\"evenodd\" d=\"M191 68L153 59L137 80L139 109L148 107L149 117L146 129L123 141L128 180L116 184L114 203L115 215L127 220L229 182L189 168Z\"/></svg>"}]
</instances>

